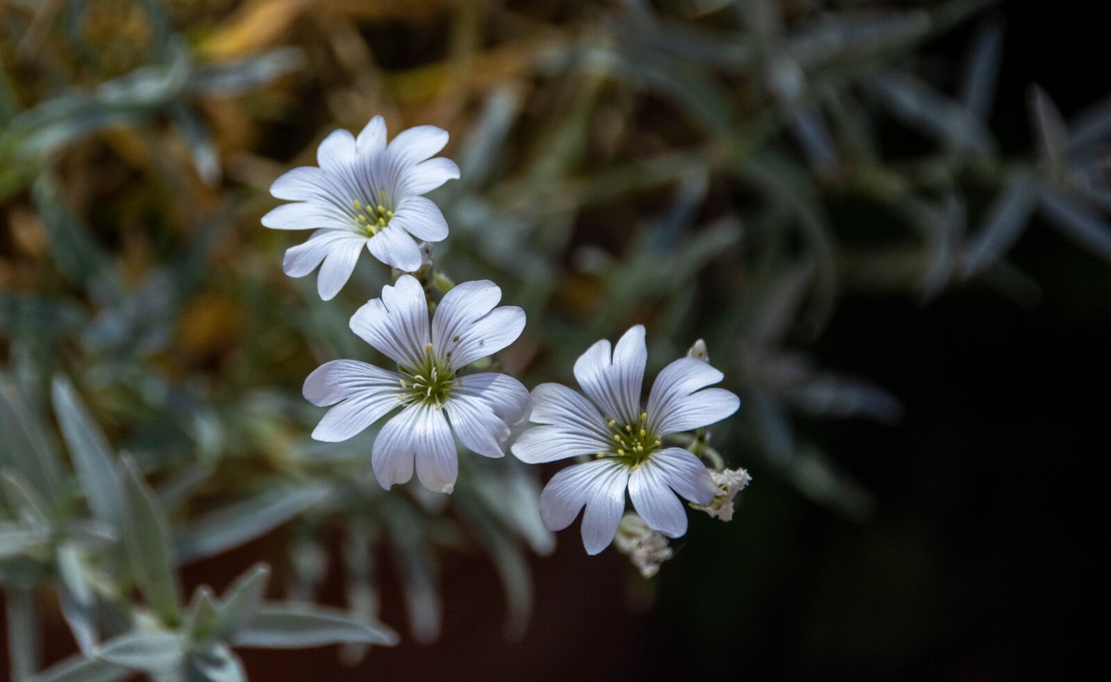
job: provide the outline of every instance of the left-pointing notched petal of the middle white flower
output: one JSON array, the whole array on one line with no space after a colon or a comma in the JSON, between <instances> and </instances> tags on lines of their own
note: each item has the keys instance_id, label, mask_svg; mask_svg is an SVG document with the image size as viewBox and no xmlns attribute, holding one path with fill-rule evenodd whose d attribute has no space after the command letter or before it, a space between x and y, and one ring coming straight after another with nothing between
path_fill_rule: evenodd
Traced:
<instances>
[{"instance_id":1,"label":"left-pointing notched petal of the middle white flower","mask_svg":"<svg viewBox=\"0 0 1111 682\"><path fill-rule=\"evenodd\" d=\"M304 380L302 392L314 405L343 401L324 414L312 432L318 441L338 442L359 434L399 407L399 375L357 360L333 360Z\"/></svg>"}]
</instances>

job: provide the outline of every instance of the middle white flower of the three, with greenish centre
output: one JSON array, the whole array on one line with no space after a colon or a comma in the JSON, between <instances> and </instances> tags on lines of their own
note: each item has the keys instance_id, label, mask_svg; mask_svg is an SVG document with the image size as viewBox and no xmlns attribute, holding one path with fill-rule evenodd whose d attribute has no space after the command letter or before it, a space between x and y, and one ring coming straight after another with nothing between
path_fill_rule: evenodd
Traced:
<instances>
[{"instance_id":1,"label":"middle white flower of the three, with greenish centre","mask_svg":"<svg viewBox=\"0 0 1111 682\"><path fill-rule=\"evenodd\" d=\"M431 491L451 492L459 473L452 432L474 452L503 457L509 427L531 409L521 382L493 372L458 375L460 369L512 343L524 329L524 311L494 308L501 289L490 281L463 282L444 294L431 329L424 290L402 275L351 317L351 330L398 363L398 372L357 360L333 360L304 380L304 398L334 405L312 432L343 441L396 408L371 452L382 488L417 478ZM449 428L450 421L450 428Z\"/></svg>"}]
</instances>

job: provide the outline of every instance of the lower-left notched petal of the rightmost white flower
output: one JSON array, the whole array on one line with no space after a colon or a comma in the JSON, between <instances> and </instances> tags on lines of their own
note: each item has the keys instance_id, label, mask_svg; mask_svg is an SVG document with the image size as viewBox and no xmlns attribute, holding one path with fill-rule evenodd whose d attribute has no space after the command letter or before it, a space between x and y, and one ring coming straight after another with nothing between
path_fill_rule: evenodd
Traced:
<instances>
[{"instance_id":1,"label":"lower-left notched petal of the rightmost white flower","mask_svg":"<svg viewBox=\"0 0 1111 682\"><path fill-rule=\"evenodd\" d=\"M584 504L594 508L591 542L585 540L587 518L583 516L583 542L591 554L600 552L617 534L621 512L624 510L624 487L629 469L619 462L594 460L574 464L559 471L540 493L540 519L550 531L561 531L571 525ZM617 515L613 516L613 508ZM607 538L608 526L612 524ZM591 549L601 543L595 551Z\"/></svg>"}]
</instances>

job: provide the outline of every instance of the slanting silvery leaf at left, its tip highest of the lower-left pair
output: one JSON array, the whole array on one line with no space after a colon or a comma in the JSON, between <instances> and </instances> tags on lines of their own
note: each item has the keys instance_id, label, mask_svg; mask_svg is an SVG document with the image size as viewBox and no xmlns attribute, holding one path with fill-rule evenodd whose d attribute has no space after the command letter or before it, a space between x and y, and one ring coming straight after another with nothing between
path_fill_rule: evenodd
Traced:
<instances>
[{"instance_id":1,"label":"slanting silvery leaf at left, its tip highest of the lower-left pair","mask_svg":"<svg viewBox=\"0 0 1111 682\"><path fill-rule=\"evenodd\" d=\"M56 377L52 388L54 414L70 457L73 458L89 508L96 518L118 523L122 518L122 492L108 441L89 417L68 379Z\"/></svg>"}]
</instances>

